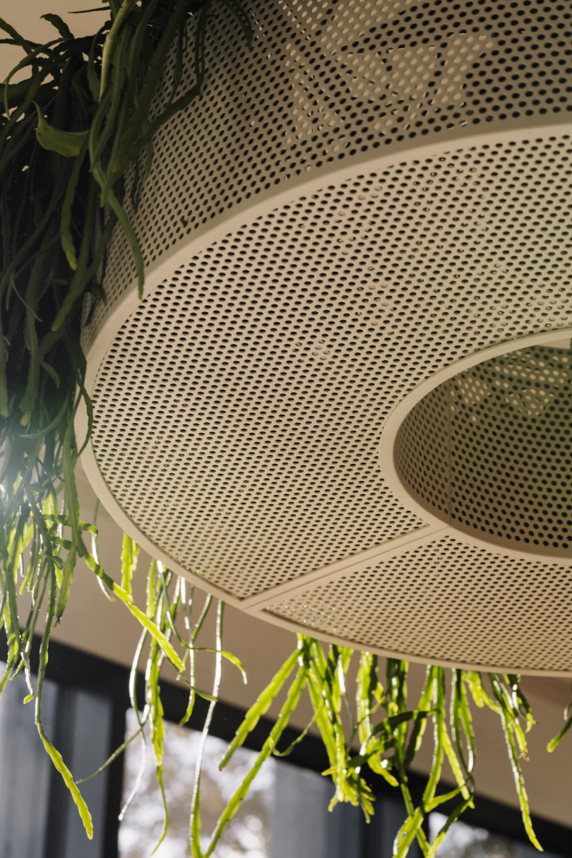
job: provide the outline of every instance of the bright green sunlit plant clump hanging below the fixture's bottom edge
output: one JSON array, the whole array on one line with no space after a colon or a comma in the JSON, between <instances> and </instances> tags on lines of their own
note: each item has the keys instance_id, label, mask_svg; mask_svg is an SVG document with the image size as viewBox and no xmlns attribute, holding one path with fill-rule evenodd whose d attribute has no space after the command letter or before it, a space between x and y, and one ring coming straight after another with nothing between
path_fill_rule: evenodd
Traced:
<instances>
[{"instance_id":1,"label":"bright green sunlit plant clump hanging below the fixture's bottom edge","mask_svg":"<svg viewBox=\"0 0 572 858\"><path fill-rule=\"evenodd\" d=\"M407 854L414 840L418 841L423 854L432 858L449 827L467 807L473 807L476 747L471 704L488 706L497 713L503 725L527 834L541 849L533 832L521 772L521 758L527 754L526 732L534 722L519 688L519 678L500 674L484 678L473 671L446 671L429 666L421 695L412 708L407 698L407 662L388 659L382 682L377 656L363 652L359 656L356 699L352 705L346 693L352 656L353 650L339 646L324 650L313 638L298 636L298 649L250 708L220 763L220 768L224 768L279 692L287 687L286 702L278 721L249 775L221 814L206 851L202 850L200 841L198 770L190 831L194 858L208 858L213 854L224 826L236 812L264 760L272 753L286 756L292 750L290 746L278 752L277 745L304 690L310 695L314 710L309 728L316 724L328 752L330 765L323 774L330 775L334 781L331 807L339 801L349 801L362 807L369 821L375 812L375 802L367 782L366 767L400 789L406 820L394 842L394 855L399 858ZM346 718L342 716L343 710ZM416 805L409 789L407 770L424 740L428 722L433 728L433 762L424 794ZM439 789L445 760L449 761L455 776L454 789ZM425 816L452 800L456 801L453 811L442 831L429 843L423 828Z\"/></svg>"}]
</instances>

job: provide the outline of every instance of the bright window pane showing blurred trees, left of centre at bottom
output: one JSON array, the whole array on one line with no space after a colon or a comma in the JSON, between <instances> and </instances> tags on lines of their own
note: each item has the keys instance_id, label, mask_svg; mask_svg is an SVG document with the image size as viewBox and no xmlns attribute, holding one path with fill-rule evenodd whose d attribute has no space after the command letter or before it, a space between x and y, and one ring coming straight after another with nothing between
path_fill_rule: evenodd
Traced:
<instances>
[{"instance_id":1,"label":"bright window pane showing blurred trees, left of centre at bottom","mask_svg":"<svg viewBox=\"0 0 572 858\"><path fill-rule=\"evenodd\" d=\"M127 718L127 735L137 728L135 712ZM170 825L157 858L187 858L189 814L200 735L177 724L166 723L164 781L170 809ZM160 838L163 809L154 775L154 754L148 734L148 752L141 789L119 829L121 858L148 858L150 847ZM256 752L240 748L223 771L220 759L226 742L209 736L203 758L201 780L202 829L214 830L219 814L256 760ZM141 745L135 740L125 755L123 795L129 796L137 780ZM359 858L361 855L361 811L340 806L328 813L333 795L331 782L315 772L268 759L250 787L238 813L227 826L215 850L216 858Z\"/></svg>"}]
</instances>

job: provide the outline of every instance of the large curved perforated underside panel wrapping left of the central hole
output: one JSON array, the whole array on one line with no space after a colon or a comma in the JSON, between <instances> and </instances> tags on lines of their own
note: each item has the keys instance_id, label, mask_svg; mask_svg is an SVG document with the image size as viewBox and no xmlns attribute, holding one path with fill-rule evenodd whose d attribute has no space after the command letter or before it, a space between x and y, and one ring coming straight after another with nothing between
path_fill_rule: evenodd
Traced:
<instances>
[{"instance_id":1,"label":"large curved perforated underside panel wrapping left of the central hole","mask_svg":"<svg viewBox=\"0 0 572 858\"><path fill-rule=\"evenodd\" d=\"M378 472L383 420L443 366L572 324L570 148L401 162L165 281L93 390L93 451L135 525L240 598L417 528Z\"/></svg>"}]
</instances>

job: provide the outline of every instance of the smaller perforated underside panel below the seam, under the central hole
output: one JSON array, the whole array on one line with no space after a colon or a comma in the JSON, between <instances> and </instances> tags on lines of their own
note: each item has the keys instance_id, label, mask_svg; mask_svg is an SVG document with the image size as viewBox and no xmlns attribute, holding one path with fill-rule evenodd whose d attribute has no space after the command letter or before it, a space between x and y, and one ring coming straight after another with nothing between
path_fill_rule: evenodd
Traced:
<instances>
[{"instance_id":1,"label":"smaller perforated underside panel below the seam, under the central hole","mask_svg":"<svg viewBox=\"0 0 572 858\"><path fill-rule=\"evenodd\" d=\"M571 577L569 567L500 557L446 536L267 613L413 658L572 671Z\"/></svg>"}]
</instances>

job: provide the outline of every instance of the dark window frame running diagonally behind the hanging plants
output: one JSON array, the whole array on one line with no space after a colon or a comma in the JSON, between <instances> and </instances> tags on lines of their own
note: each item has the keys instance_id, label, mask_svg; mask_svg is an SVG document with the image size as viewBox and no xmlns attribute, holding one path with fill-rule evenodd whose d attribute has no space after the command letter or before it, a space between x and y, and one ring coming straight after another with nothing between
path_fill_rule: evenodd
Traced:
<instances>
[{"instance_id":1,"label":"dark window frame running diagonally behind the hanging plants","mask_svg":"<svg viewBox=\"0 0 572 858\"><path fill-rule=\"evenodd\" d=\"M39 636L34 636L30 653L30 665L34 673L37 672L39 664L39 641ZM0 660L5 661L6 657L7 645L5 637L2 636L0 637ZM112 705L110 754L117 746L122 744L125 736L125 716L130 707L128 692L129 668L99 656L93 656L90 653L75 649L67 644L52 641L46 676L63 688L83 689L109 698ZM140 675L137 680L137 698L140 701L141 707L143 704L143 687L144 680L143 676ZM185 692L182 686L162 681L161 697L166 719L178 722L186 709L187 692ZM202 698L196 698L195 710L187 727L201 730L207 710L207 701ZM219 739L230 741L238 725L242 722L243 717L244 710L232 704L220 702L214 710L210 733ZM274 722L271 719L267 717L261 718L256 728L245 740L244 746L250 748L252 751L260 751L273 724ZM285 746L297 739L299 734L298 730L287 728L282 740ZM291 755L288 757L288 762L316 772L322 772L328 768L328 758L322 741L312 735L306 735L293 748ZM381 776L376 776L375 773L368 771L366 779L376 795L380 797L395 797L397 795L396 790L390 787ZM415 772L410 773L409 785L414 801L422 795L426 782L426 777ZM104 838L105 858L117 858L118 855L119 821L117 816L121 808L122 794L123 755L118 757L109 768ZM441 813L449 813L449 809L449 805L439 807ZM492 801L485 798L485 796L477 794L474 809L469 808L463 814L462 819L468 825L479 826L491 831L492 834L530 845L522 824L521 813L515 807ZM547 851L560 855L562 858L572 858L572 827L559 825L550 819L545 819L536 814L533 814L533 825L540 843L542 843ZM368 829L370 829L370 826L365 826L364 841L366 855L368 852ZM54 842L57 842L57 837ZM46 855L45 858L51 858L51 855Z\"/></svg>"}]
</instances>

